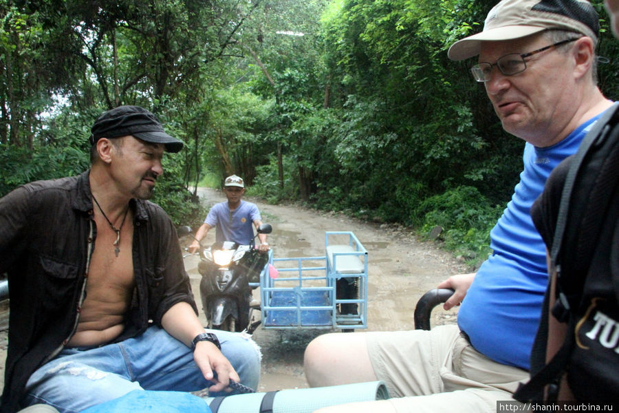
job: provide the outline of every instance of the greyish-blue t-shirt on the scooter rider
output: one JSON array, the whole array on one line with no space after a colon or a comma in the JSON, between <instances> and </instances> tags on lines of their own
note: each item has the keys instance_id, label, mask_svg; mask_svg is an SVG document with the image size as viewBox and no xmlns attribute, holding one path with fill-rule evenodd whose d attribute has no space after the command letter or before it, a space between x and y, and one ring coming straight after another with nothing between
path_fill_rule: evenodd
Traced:
<instances>
[{"instance_id":1,"label":"greyish-blue t-shirt on the scooter rider","mask_svg":"<svg viewBox=\"0 0 619 413\"><path fill-rule=\"evenodd\" d=\"M230 211L227 201L213 205L204 222L217 229L215 241L249 245L254 238L255 220L262 221L256 204L241 200L234 211Z\"/></svg>"}]
</instances>

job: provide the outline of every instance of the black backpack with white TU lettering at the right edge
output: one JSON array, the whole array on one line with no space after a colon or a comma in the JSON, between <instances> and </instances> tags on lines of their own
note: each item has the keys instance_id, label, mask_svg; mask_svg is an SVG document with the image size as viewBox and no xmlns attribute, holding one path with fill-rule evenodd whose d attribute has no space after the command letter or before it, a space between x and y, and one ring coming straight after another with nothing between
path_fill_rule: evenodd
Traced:
<instances>
[{"instance_id":1,"label":"black backpack with white TU lettering at the right edge","mask_svg":"<svg viewBox=\"0 0 619 413\"><path fill-rule=\"evenodd\" d=\"M550 248L557 273L552 315L567 323L567 333L546 363L548 288L532 378L514 393L523 402L556 401L565 373L578 400L619 398L619 103L602 114L569 162Z\"/></svg>"}]
</instances>

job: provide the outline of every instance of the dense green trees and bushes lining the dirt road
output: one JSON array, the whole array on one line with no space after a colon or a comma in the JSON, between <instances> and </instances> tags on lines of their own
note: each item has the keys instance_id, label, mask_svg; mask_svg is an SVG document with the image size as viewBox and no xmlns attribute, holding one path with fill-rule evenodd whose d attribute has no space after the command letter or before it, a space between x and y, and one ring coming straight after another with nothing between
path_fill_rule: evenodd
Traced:
<instances>
[{"instance_id":1,"label":"dense green trees and bushes lining the dirt road","mask_svg":"<svg viewBox=\"0 0 619 413\"><path fill-rule=\"evenodd\" d=\"M600 87L619 97L602 0ZM0 196L87 169L100 112L141 105L186 142L155 202L204 219L237 173L296 201L427 235L475 264L524 142L448 45L495 0L0 0Z\"/></svg>"}]
</instances>

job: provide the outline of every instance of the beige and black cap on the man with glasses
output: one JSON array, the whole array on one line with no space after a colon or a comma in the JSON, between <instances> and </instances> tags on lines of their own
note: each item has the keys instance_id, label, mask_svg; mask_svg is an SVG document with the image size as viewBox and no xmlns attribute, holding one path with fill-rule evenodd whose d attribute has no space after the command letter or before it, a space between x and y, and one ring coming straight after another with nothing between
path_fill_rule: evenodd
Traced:
<instances>
[{"instance_id":1,"label":"beige and black cap on the man with glasses","mask_svg":"<svg viewBox=\"0 0 619 413\"><path fill-rule=\"evenodd\" d=\"M584 34L597 43L600 19L587 0L503 0L488 13L484 30L453 43L447 56L468 59L479 54L482 41L520 39L552 29Z\"/></svg>"}]
</instances>

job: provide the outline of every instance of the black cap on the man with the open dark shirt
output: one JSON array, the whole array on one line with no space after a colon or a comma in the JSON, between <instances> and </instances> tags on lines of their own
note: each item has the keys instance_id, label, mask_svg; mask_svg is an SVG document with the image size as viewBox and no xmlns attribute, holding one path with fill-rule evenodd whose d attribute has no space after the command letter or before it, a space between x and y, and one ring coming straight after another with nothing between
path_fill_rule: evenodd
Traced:
<instances>
[{"instance_id":1,"label":"black cap on the man with the open dark shirt","mask_svg":"<svg viewBox=\"0 0 619 413\"><path fill-rule=\"evenodd\" d=\"M119 138L131 135L151 143L162 143L169 152L183 149L182 140L173 138L151 112L139 106L119 106L103 112L90 129L90 144L100 138Z\"/></svg>"}]
</instances>

